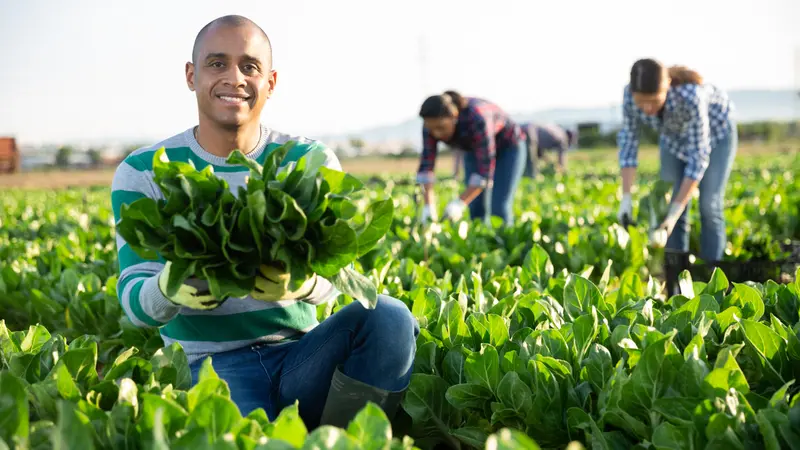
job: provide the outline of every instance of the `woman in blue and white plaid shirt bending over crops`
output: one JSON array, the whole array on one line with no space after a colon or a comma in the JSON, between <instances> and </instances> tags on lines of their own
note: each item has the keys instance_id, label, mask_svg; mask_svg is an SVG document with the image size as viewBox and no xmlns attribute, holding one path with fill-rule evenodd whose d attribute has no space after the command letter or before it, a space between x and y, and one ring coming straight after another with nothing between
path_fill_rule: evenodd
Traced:
<instances>
[{"instance_id":1,"label":"woman in blue and white plaid shirt bending over crops","mask_svg":"<svg viewBox=\"0 0 800 450\"><path fill-rule=\"evenodd\" d=\"M689 251L688 212L692 193L699 189L700 257L722 259L727 243L722 206L737 148L733 109L725 92L693 70L667 68L652 59L633 65L618 135L623 192L618 218L623 224L632 216L638 129L647 125L660 132L661 177L675 185L667 217L651 231L651 241Z\"/></svg>"}]
</instances>

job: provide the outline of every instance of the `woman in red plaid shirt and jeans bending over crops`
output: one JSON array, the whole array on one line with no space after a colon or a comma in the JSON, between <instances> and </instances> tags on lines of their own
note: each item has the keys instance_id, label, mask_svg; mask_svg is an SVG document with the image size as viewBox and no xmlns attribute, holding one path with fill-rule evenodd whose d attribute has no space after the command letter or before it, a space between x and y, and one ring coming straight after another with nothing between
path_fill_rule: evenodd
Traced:
<instances>
[{"instance_id":1,"label":"woman in red plaid shirt and jeans bending over crops","mask_svg":"<svg viewBox=\"0 0 800 450\"><path fill-rule=\"evenodd\" d=\"M445 218L460 220L469 206L472 219L498 216L513 223L513 200L525 170L525 133L499 106L447 91L428 97L419 111L423 119L422 156L417 182L423 186L422 221L437 220L433 201L437 145L444 142L463 152L467 189L451 200Z\"/></svg>"}]
</instances>

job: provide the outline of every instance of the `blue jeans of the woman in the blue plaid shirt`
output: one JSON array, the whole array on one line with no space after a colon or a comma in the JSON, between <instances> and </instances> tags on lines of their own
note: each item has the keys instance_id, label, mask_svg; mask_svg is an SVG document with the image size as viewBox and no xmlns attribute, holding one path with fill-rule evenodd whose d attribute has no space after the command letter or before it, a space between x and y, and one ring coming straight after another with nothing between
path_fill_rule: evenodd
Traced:
<instances>
[{"instance_id":1,"label":"blue jeans of the woman in the blue plaid shirt","mask_svg":"<svg viewBox=\"0 0 800 450\"><path fill-rule=\"evenodd\" d=\"M731 124L731 134L717 142L711 148L711 159L708 168L700 180L700 258L713 262L722 259L728 239L725 233L725 188L728 177L736 159L738 137L736 124ZM661 177L665 181L674 183L672 196L678 195L683 170L686 163L661 147ZM689 210L692 200L686 205L672 234L667 239L667 248L688 252L689 251Z\"/></svg>"}]
</instances>

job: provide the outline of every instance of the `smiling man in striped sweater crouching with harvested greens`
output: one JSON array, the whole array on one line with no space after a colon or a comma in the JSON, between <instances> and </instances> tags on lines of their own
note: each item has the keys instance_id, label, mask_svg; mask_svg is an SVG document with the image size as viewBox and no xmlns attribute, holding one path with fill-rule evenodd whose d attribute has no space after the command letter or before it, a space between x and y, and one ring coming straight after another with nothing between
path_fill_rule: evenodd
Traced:
<instances>
[{"instance_id":1,"label":"smiling man in striped sweater crouching with harvested greens","mask_svg":"<svg viewBox=\"0 0 800 450\"><path fill-rule=\"evenodd\" d=\"M172 161L192 161L198 170L213 166L236 193L248 169L226 164L234 149L263 164L287 140L298 141L284 160L296 161L313 141L290 137L260 121L275 89L269 38L241 16L225 16L198 33L186 83L195 93L198 124L151 147L134 151L114 175L112 203L120 207L144 196L163 198L153 181L152 158L166 147ZM325 148L326 166L341 170ZM138 257L117 237L120 266L117 290L126 315L140 327L158 328L166 345L179 342L186 351L192 382L206 357L230 387L242 414L263 408L270 419L299 400L309 428L346 427L367 401L391 418L408 387L419 327L399 300L379 296L375 309L353 302L322 323L316 305L339 292L312 276L288 291L289 274L261 266L256 290L249 296L219 302L184 285L167 297L170 264ZM197 280L194 280L197 281Z\"/></svg>"}]
</instances>

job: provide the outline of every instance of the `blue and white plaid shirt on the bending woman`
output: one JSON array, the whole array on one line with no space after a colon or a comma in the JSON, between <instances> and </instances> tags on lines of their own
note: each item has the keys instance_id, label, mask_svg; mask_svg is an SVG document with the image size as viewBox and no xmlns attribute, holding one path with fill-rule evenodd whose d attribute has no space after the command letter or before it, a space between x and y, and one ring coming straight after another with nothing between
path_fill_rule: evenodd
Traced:
<instances>
[{"instance_id":1,"label":"blue and white plaid shirt on the bending woman","mask_svg":"<svg viewBox=\"0 0 800 450\"><path fill-rule=\"evenodd\" d=\"M649 125L661 134L660 145L686 163L684 177L701 180L708 168L711 148L731 133L733 103L710 84L670 87L663 118L648 116L633 103L630 86L623 96L622 129L617 135L619 165L636 167L639 126Z\"/></svg>"}]
</instances>

